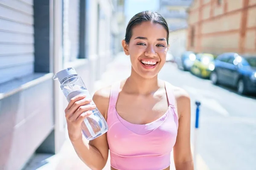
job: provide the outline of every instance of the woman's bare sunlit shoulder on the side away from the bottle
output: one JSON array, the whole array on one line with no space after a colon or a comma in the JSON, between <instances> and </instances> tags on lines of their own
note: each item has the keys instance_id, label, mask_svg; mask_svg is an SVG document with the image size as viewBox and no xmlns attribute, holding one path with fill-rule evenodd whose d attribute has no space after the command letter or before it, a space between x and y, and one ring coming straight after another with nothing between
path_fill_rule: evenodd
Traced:
<instances>
[{"instance_id":1,"label":"woman's bare sunlit shoulder on the side away from the bottle","mask_svg":"<svg viewBox=\"0 0 256 170\"><path fill-rule=\"evenodd\" d=\"M190 113L190 96L187 91L183 88L171 85L176 101L176 108L178 116L183 116L183 114Z\"/></svg>"}]
</instances>

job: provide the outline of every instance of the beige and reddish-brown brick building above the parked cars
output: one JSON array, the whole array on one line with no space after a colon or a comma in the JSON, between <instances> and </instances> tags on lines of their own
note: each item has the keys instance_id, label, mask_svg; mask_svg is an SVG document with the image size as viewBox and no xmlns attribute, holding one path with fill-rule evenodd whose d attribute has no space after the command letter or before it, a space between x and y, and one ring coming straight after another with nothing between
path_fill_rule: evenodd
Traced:
<instances>
[{"instance_id":1,"label":"beige and reddish-brown brick building above the parked cars","mask_svg":"<svg viewBox=\"0 0 256 170\"><path fill-rule=\"evenodd\" d=\"M195 0L189 9L187 49L256 54L256 0Z\"/></svg>"}]
</instances>

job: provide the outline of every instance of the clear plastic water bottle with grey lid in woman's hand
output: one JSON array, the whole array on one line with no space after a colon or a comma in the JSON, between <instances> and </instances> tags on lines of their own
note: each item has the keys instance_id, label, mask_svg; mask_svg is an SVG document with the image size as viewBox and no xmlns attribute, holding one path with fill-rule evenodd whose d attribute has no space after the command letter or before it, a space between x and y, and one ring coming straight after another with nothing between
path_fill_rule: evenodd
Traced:
<instances>
[{"instance_id":1,"label":"clear plastic water bottle with grey lid in woman's hand","mask_svg":"<svg viewBox=\"0 0 256 170\"><path fill-rule=\"evenodd\" d=\"M87 99L91 99L83 80L78 76L74 68L66 68L59 71L53 79L58 79L61 83L61 90L68 102L79 94L86 95ZM90 104L95 105L93 101ZM92 112L90 116L84 119L81 125L82 133L87 140L93 140L108 131L108 124L98 109L96 108Z\"/></svg>"}]
</instances>

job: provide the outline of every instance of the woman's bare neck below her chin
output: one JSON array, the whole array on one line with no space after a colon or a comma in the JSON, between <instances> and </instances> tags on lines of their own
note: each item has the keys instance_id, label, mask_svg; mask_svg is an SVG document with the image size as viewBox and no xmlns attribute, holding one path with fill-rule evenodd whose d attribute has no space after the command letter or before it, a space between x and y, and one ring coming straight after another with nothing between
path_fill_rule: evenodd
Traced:
<instances>
[{"instance_id":1,"label":"woman's bare neck below her chin","mask_svg":"<svg viewBox=\"0 0 256 170\"><path fill-rule=\"evenodd\" d=\"M133 69L131 76L125 82L123 90L131 94L147 95L157 91L160 88L160 84L157 76L153 78L143 78L138 75Z\"/></svg>"}]
</instances>

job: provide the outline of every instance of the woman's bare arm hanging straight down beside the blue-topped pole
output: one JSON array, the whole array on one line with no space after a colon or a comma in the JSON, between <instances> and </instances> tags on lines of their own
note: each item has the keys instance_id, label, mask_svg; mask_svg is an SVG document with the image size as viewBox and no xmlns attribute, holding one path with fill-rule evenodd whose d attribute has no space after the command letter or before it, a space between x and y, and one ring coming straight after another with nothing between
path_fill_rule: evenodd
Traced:
<instances>
[{"instance_id":1,"label":"woman's bare arm hanging straight down beside the blue-topped pole","mask_svg":"<svg viewBox=\"0 0 256 170\"><path fill-rule=\"evenodd\" d=\"M175 146L173 148L176 170L194 170L190 146L190 98L186 91L175 90L179 127Z\"/></svg>"}]
</instances>

